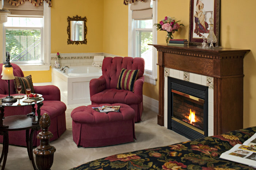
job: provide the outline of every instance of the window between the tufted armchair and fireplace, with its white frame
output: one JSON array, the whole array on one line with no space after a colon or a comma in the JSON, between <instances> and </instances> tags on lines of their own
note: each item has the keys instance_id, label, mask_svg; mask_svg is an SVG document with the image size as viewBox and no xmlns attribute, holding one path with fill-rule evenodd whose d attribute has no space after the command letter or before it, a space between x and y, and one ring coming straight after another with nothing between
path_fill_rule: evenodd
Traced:
<instances>
[{"instance_id":1,"label":"window between the tufted armchair and fireplace, with its white frame","mask_svg":"<svg viewBox=\"0 0 256 170\"><path fill-rule=\"evenodd\" d=\"M131 6L131 4L129 4L129 6ZM146 6L146 4L143 6ZM157 50L154 46L148 44L157 44L157 31L153 28L153 24L157 23L157 1L151 1L150 7L153 7L151 10L151 12L153 12L153 17L142 19L136 18L138 16L143 16L142 13L139 13L139 15L136 15L136 13L133 14L134 11L132 11L131 8L134 9L134 7L129 7L128 56L144 58L145 82L156 85Z\"/></svg>"}]
</instances>

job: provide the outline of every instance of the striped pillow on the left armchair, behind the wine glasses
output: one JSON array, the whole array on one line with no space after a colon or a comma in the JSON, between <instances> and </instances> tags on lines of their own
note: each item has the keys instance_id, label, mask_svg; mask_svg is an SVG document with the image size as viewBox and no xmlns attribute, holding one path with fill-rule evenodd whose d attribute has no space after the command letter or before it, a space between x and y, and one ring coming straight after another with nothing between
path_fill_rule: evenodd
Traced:
<instances>
[{"instance_id":1,"label":"striped pillow on the left armchair, behind the wine glasses","mask_svg":"<svg viewBox=\"0 0 256 170\"><path fill-rule=\"evenodd\" d=\"M27 88L31 89L31 93L34 93L34 86L33 86L31 75L29 75L27 77L16 77L16 76L14 76L14 77L15 77L14 83L15 83L16 93L19 93L17 91L17 86L21 86L20 93L22 93L22 94L26 94Z\"/></svg>"}]
</instances>

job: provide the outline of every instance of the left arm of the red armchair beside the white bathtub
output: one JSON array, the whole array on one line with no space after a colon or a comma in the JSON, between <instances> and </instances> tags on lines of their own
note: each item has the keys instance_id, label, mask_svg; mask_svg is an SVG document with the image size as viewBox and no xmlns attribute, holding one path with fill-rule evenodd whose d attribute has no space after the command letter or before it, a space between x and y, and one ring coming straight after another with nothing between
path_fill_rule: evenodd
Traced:
<instances>
[{"instance_id":1,"label":"left arm of the red armchair beside the white bathtub","mask_svg":"<svg viewBox=\"0 0 256 170\"><path fill-rule=\"evenodd\" d=\"M103 76L90 81L90 97L106 89L106 80Z\"/></svg>"}]
</instances>

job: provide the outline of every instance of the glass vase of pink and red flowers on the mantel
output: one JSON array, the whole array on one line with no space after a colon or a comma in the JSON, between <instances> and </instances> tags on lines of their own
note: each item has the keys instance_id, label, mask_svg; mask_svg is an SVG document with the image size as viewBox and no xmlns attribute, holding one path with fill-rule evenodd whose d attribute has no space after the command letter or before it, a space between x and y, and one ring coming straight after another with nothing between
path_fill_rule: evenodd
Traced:
<instances>
[{"instance_id":1,"label":"glass vase of pink and red flowers on the mantel","mask_svg":"<svg viewBox=\"0 0 256 170\"><path fill-rule=\"evenodd\" d=\"M176 18L166 16L159 23L154 24L155 26L157 26L157 30L167 32L165 38L167 44L169 43L169 39L173 39L173 34L175 33L175 31L178 31L180 26L184 26L183 24L178 24L178 22L180 22L180 20L176 21Z\"/></svg>"}]
</instances>

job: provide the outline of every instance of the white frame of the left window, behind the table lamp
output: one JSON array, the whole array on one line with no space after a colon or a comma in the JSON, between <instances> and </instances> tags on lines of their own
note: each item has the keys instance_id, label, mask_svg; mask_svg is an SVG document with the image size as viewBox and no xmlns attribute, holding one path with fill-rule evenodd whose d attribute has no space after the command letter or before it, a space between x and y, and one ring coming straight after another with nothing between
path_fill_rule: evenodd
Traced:
<instances>
[{"instance_id":1,"label":"white frame of the left window, behind the table lamp","mask_svg":"<svg viewBox=\"0 0 256 170\"><path fill-rule=\"evenodd\" d=\"M42 46L42 59L43 63L41 64L19 64L19 67L22 69L22 71L47 71L50 69L50 39L51 39L51 8L49 7L49 4L44 1L44 17L43 17L43 28L42 28L42 40L41 40L41 46ZM27 28L27 27L26 27ZM4 30L4 24L2 27L3 30L3 61L5 60L5 30ZM31 67L31 66L37 66L37 67ZM40 66L40 67L38 67Z\"/></svg>"}]
</instances>

